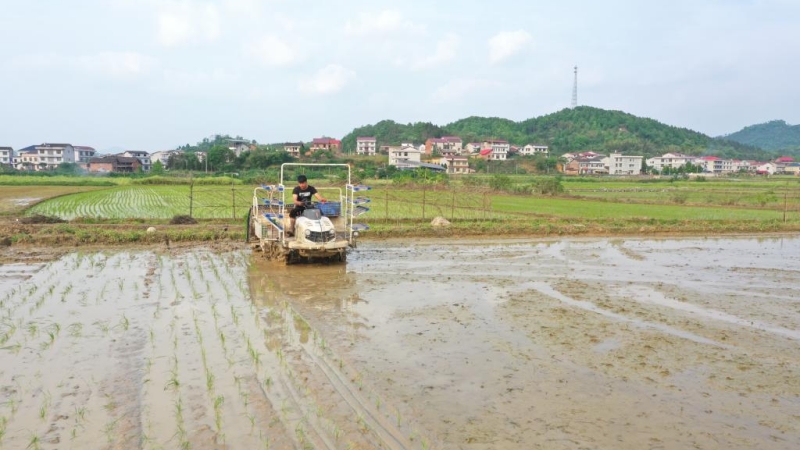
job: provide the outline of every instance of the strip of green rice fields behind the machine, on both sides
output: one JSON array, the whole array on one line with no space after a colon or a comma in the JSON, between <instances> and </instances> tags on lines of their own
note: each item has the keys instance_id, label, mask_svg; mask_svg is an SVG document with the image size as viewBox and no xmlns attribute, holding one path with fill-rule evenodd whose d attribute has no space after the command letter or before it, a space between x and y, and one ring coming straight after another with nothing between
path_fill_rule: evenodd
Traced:
<instances>
[{"instance_id":1,"label":"strip of green rice fields behind the machine, on both sides","mask_svg":"<svg viewBox=\"0 0 800 450\"><path fill-rule=\"evenodd\" d=\"M575 219L635 218L658 220L800 220L800 185L780 186L719 183L570 185L566 196L510 195L465 187L396 189L382 185L365 195L370 219L414 220L490 219L531 215ZM589 186L587 186L589 185ZM785 184L784 184L785 186ZM25 214L74 219L242 218L252 203L250 186L127 185L79 192L45 200ZM584 190L581 190L584 189ZM605 189L605 190L603 190ZM646 190L645 190L646 189ZM35 188L31 189L34 192ZM66 193L66 192L65 192ZM35 195L35 194L30 194ZM325 194L336 200L335 193ZM758 201L756 201L758 200Z\"/></svg>"}]
</instances>

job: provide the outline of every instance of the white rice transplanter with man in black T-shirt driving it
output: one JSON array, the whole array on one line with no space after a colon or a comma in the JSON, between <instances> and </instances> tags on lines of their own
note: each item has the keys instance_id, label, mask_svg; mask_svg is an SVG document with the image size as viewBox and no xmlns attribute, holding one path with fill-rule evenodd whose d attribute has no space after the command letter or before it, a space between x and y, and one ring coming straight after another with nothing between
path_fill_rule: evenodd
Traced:
<instances>
[{"instance_id":1,"label":"white rice transplanter with man in black T-shirt driving it","mask_svg":"<svg viewBox=\"0 0 800 450\"><path fill-rule=\"evenodd\" d=\"M305 202L293 221L289 217L295 207L293 186L287 187L285 180L293 179L304 169L328 172L329 177L315 187L329 201ZM335 183L328 184L334 179ZM283 164L280 184L260 186L253 191L249 239L267 258L286 264L302 260L346 261L348 250L356 246L359 232L369 229L356 220L369 211L364 205L370 200L361 196L369 189L352 183L347 164Z\"/></svg>"}]
</instances>

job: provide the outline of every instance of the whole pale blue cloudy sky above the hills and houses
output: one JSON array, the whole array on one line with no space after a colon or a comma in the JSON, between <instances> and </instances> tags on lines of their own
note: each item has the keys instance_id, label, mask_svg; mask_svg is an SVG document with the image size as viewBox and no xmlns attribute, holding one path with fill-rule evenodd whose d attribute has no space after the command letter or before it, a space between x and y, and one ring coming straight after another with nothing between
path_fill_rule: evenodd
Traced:
<instances>
[{"instance_id":1,"label":"whole pale blue cloudy sky above the hills and houses","mask_svg":"<svg viewBox=\"0 0 800 450\"><path fill-rule=\"evenodd\" d=\"M0 146L524 120L578 103L712 136L800 123L800 2L26 0L0 15Z\"/></svg>"}]
</instances>

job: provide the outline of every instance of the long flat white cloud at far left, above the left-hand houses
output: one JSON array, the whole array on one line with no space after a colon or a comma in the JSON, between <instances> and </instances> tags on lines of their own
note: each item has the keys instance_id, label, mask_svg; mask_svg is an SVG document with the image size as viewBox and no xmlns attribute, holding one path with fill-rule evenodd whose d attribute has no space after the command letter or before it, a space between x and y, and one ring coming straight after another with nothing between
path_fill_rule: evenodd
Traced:
<instances>
[{"instance_id":1,"label":"long flat white cloud at far left, above the left-hand houses","mask_svg":"<svg viewBox=\"0 0 800 450\"><path fill-rule=\"evenodd\" d=\"M145 76L157 65L155 59L135 52L100 52L81 56L34 54L11 61L11 67L16 69L66 69L112 79Z\"/></svg>"}]
</instances>

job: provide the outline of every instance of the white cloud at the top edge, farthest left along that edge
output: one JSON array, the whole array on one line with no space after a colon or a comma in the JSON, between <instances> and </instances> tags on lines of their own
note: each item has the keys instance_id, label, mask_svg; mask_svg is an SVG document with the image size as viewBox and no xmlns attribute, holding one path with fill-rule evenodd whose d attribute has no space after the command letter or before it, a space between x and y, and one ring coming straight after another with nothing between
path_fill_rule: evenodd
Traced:
<instances>
[{"instance_id":1,"label":"white cloud at the top edge, farthest left along that edge","mask_svg":"<svg viewBox=\"0 0 800 450\"><path fill-rule=\"evenodd\" d=\"M184 0L159 3L157 22L158 41L174 47L216 40L222 20L215 5Z\"/></svg>"}]
</instances>

